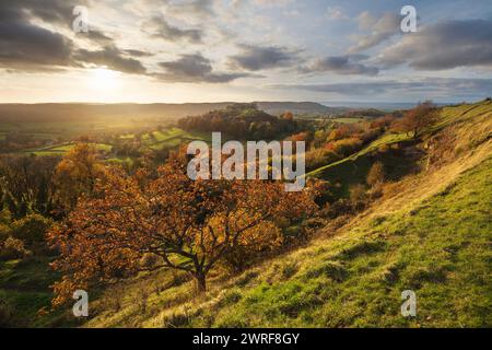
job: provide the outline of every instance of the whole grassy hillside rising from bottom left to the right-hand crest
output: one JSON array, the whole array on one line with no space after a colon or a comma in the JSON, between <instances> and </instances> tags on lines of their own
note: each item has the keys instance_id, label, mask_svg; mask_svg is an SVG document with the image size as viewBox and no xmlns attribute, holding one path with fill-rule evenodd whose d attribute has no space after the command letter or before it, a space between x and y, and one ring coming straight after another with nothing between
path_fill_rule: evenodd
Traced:
<instances>
[{"instance_id":1,"label":"whole grassy hillside rising from bottom left to the right-hand crest","mask_svg":"<svg viewBox=\"0 0 492 350\"><path fill-rule=\"evenodd\" d=\"M444 108L410 145L425 153L421 171L358 217L239 276L212 278L207 296L179 275L141 275L107 291L83 326L490 327L491 130L490 102ZM400 315L408 289L415 318Z\"/></svg>"}]
</instances>

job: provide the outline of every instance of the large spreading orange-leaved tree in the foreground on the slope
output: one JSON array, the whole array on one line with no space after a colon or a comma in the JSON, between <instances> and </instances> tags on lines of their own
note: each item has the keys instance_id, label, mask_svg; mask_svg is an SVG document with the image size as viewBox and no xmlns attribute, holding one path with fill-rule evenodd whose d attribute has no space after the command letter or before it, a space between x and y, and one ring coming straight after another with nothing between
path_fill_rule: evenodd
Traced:
<instances>
[{"instance_id":1,"label":"large spreading orange-leaved tree in the foreground on the slope","mask_svg":"<svg viewBox=\"0 0 492 350\"><path fill-rule=\"evenodd\" d=\"M208 273L227 254L274 245L278 218L300 218L315 207L306 192L284 192L281 183L192 180L173 159L156 178L113 170L94 198L81 200L48 233L60 250L54 268L65 272L54 303L75 287L148 270L140 264L148 255L159 260L152 269L186 271L203 292Z\"/></svg>"}]
</instances>

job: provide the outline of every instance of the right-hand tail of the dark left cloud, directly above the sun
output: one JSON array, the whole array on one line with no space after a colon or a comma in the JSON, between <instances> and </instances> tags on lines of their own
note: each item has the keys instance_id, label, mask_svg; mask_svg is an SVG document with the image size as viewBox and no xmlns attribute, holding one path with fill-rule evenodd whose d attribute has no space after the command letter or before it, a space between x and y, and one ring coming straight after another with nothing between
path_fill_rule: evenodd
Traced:
<instances>
[{"instance_id":1,"label":"right-hand tail of the dark left cloud, directly above the sun","mask_svg":"<svg viewBox=\"0 0 492 350\"><path fill-rule=\"evenodd\" d=\"M124 57L124 52L115 46L95 51L80 49L74 55L74 59L79 62L106 66L108 69L130 74L145 73L145 68L139 60Z\"/></svg>"}]
</instances>

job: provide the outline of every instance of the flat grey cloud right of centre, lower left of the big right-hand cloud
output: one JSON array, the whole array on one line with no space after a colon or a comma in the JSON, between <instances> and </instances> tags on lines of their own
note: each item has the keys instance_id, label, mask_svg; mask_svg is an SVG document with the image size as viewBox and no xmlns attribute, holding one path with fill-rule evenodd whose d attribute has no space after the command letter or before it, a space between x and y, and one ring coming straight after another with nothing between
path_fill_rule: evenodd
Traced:
<instances>
[{"instance_id":1,"label":"flat grey cloud right of centre, lower left of the big right-hand cloud","mask_svg":"<svg viewBox=\"0 0 492 350\"><path fill-rule=\"evenodd\" d=\"M376 67L365 66L359 61L365 60L367 56L329 56L317 59L312 66L302 68L303 73L316 72L333 72L337 74L360 74L360 75L376 75L379 69Z\"/></svg>"}]
</instances>

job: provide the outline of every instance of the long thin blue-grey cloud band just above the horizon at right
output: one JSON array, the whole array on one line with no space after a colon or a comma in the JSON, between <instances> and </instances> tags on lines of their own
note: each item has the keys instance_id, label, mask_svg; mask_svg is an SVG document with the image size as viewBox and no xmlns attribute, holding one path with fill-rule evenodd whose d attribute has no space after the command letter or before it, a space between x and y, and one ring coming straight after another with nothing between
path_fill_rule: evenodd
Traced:
<instances>
[{"instance_id":1,"label":"long thin blue-grey cloud band just above the horizon at right","mask_svg":"<svg viewBox=\"0 0 492 350\"><path fill-rule=\"evenodd\" d=\"M271 89L305 90L348 96L374 96L384 94L419 94L422 96L476 97L492 91L492 79L424 78L412 81L373 81L332 84L270 85Z\"/></svg>"}]
</instances>

